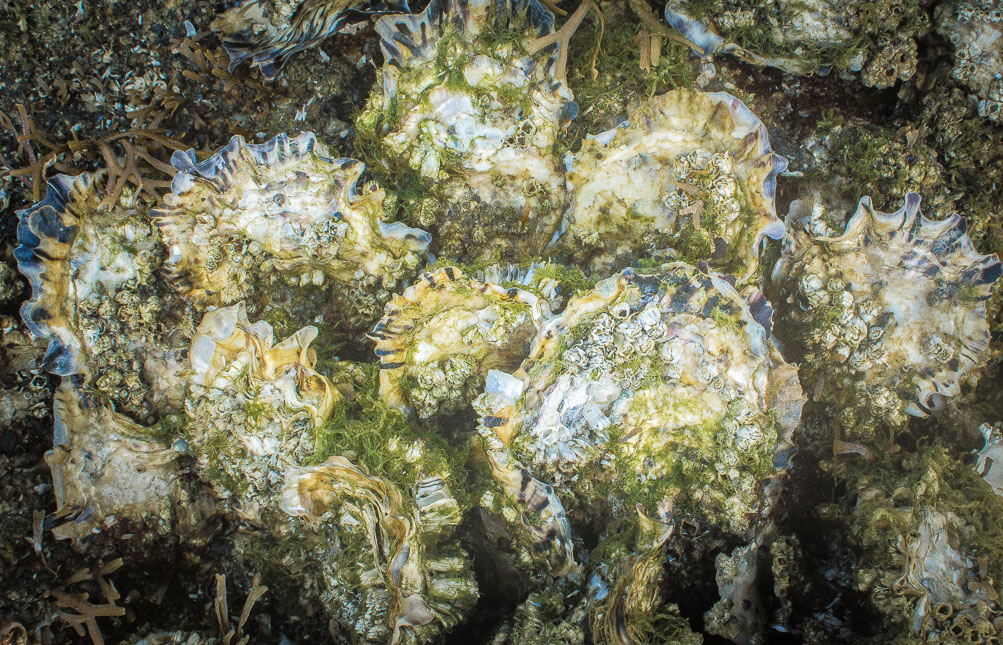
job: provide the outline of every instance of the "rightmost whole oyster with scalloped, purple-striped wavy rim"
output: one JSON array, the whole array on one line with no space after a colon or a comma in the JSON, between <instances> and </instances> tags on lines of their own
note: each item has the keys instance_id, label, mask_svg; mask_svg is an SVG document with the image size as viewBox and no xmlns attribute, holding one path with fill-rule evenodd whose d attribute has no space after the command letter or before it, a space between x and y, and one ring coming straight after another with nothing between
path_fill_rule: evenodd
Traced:
<instances>
[{"instance_id":1,"label":"rightmost whole oyster with scalloped, purple-striped wavy rim","mask_svg":"<svg viewBox=\"0 0 1003 645\"><path fill-rule=\"evenodd\" d=\"M790 234L773 280L804 350L805 379L841 410L845 436L926 416L985 359L985 301L1000 277L975 251L963 218L929 220L920 196L876 211L862 198L843 233L810 203L791 207Z\"/></svg>"}]
</instances>

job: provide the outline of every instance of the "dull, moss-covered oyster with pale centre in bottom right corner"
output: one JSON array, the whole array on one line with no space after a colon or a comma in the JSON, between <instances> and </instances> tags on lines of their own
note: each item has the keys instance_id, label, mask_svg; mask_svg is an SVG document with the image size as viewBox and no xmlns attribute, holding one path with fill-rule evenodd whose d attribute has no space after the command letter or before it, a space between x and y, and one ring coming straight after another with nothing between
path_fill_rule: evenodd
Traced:
<instances>
[{"instance_id":1,"label":"dull, moss-covered oyster with pale centre in bottom right corner","mask_svg":"<svg viewBox=\"0 0 1003 645\"><path fill-rule=\"evenodd\" d=\"M940 446L853 463L846 478L848 500L825 513L860 543L854 591L869 594L882 638L998 640L1003 500Z\"/></svg>"}]
</instances>

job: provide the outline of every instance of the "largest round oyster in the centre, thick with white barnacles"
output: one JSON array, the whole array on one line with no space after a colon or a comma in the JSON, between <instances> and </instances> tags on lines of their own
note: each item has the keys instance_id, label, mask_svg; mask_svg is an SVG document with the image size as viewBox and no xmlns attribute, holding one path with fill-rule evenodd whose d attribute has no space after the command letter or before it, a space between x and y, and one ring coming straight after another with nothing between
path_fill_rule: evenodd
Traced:
<instances>
[{"instance_id":1,"label":"largest round oyster in the centre, thick with white barnacles","mask_svg":"<svg viewBox=\"0 0 1003 645\"><path fill-rule=\"evenodd\" d=\"M475 406L496 472L527 469L600 530L640 511L746 535L803 403L749 304L683 263L573 298L515 376L492 375Z\"/></svg>"}]
</instances>

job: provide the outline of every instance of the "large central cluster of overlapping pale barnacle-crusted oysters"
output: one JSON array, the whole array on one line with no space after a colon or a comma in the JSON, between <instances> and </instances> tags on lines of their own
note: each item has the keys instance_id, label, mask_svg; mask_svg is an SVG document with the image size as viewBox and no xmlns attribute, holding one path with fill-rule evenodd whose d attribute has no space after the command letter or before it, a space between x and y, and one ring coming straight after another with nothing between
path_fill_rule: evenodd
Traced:
<instances>
[{"instance_id":1,"label":"large central cluster of overlapping pale barnacle-crusted oysters","mask_svg":"<svg viewBox=\"0 0 1003 645\"><path fill-rule=\"evenodd\" d=\"M999 261L915 194L784 225L786 162L726 93L641 100L560 156L578 107L536 0L376 28L356 128L434 194L401 204L300 133L176 153L152 210L82 175L20 213L22 317L62 377L53 532L204 544L222 515L361 643L436 642L488 580L530 596L486 642L700 642L668 578L710 562L703 629L759 642L804 392L860 450L944 407L986 359ZM917 637L952 602L924 566L995 603L936 557L955 521L916 520Z\"/></svg>"}]
</instances>

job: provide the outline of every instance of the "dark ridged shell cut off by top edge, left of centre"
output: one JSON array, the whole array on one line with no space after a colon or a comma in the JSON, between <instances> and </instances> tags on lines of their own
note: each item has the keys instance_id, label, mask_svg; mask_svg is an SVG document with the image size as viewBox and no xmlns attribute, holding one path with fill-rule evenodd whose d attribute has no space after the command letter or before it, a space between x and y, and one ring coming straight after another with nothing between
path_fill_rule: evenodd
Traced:
<instances>
[{"instance_id":1,"label":"dark ridged shell cut off by top edge, left of centre","mask_svg":"<svg viewBox=\"0 0 1003 645\"><path fill-rule=\"evenodd\" d=\"M211 25L230 55L230 69L250 59L275 78L290 56L338 30L353 0L244 0ZM404 8L407 3L404 2Z\"/></svg>"}]
</instances>

